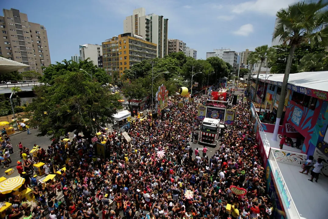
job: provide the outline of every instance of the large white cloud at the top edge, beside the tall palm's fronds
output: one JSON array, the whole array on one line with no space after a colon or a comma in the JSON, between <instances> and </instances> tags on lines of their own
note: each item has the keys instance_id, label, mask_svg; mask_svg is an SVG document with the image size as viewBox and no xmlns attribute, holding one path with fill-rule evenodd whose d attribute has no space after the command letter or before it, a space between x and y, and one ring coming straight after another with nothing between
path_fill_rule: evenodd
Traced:
<instances>
[{"instance_id":1,"label":"large white cloud at the top edge, beside the tall palm's fronds","mask_svg":"<svg viewBox=\"0 0 328 219\"><path fill-rule=\"evenodd\" d=\"M234 5L232 12L240 14L243 12L258 12L275 16L277 11L281 8L286 8L290 3L297 0L256 0L247 1Z\"/></svg>"}]
</instances>

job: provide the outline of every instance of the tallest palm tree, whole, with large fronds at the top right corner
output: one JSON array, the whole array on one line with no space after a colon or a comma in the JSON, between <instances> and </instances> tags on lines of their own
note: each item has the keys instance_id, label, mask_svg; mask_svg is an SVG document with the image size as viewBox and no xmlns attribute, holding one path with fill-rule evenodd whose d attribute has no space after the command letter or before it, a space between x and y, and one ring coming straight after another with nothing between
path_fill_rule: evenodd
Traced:
<instances>
[{"instance_id":1,"label":"tallest palm tree, whole, with large fronds at the top right corner","mask_svg":"<svg viewBox=\"0 0 328 219\"><path fill-rule=\"evenodd\" d=\"M286 87L295 47L303 42L310 43L312 47L317 46L320 41L323 46L328 45L328 27L322 28L323 24L328 22L326 6L328 6L328 3L323 3L322 0L307 0L293 3L286 9L280 9L276 14L277 26L273 32L272 40L278 38L280 42L288 43L290 50L281 86L277 119L272 138L275 141L277 140L279 123L284 108Z\"/></svg>"}]
</instances>

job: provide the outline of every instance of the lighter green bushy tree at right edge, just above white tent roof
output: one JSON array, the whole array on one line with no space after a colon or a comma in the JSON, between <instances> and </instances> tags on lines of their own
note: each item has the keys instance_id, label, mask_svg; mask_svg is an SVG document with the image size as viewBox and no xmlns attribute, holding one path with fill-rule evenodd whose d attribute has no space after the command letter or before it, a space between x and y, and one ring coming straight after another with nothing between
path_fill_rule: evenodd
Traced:
<instances>
[{"instance_id":1,"label":"lighter green bushy tree at right edge, just above white tent roof","mask_svg":"<svg viewBox=\"0 0 328 219\"><path fill-rule=\"evenodd\" d=\"M297 66L298 72L306 72L306 71L323 71L326 70L324 63L322 62L325 54L317 53L317 54L307 54L305 55L300 64Z\"/></svg>"}]
</instances>

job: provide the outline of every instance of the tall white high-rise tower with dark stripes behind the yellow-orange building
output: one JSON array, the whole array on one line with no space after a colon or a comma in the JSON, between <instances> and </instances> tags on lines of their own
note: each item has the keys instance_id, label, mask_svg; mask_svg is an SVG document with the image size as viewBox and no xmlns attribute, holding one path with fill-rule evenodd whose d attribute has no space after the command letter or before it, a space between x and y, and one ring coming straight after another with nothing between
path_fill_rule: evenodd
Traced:
<instances>
[{"instance_id":1,"label":"tall white high-rise tower with dark stripes behind the yellow-orange building","mask_svg":"<svg viewBox=\"0 0 328 219\"><path fill-rule=\"evenodd\" d=\"M144 8L133 10L133 15L123 21L124 33L142 36L148 42L157 45L157 57L168 54L168 20L164 16L147 14Z\"/></svg>"}]
</instances>

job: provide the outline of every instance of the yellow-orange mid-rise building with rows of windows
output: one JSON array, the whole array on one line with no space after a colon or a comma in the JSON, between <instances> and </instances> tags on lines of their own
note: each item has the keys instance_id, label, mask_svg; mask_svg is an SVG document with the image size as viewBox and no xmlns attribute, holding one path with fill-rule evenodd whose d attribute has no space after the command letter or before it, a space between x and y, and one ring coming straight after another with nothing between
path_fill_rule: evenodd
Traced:
<instances>
[{"instance_id":1,"label":"yellow-orange mid-rise building with rows of windows","mask_svg":"<svg viewBox=\"0 0 328 219\"><path fill-rule=\"evenodd\" d=\"M120 81L124 70L146 59L154 59L157 45L141 36L124 33L102 43L103 66L115 81Z\"/></svg>"}]
</instances>

